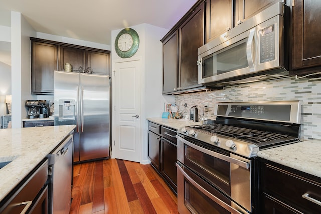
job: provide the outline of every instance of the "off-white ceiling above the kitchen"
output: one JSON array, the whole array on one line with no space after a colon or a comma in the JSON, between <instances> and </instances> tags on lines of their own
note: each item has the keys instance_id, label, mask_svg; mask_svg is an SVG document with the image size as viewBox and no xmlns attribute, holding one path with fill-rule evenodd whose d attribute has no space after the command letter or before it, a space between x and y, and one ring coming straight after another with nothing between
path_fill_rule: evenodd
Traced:
<instances>
[{"instance_id":1,"label":"off-white ceiling above the kitchen","mask_svg":"<svg viewBox=\"0 0 321 214\"><path fill-rule=\"evenodd\" d=\"M111 31L142 23L171 29L196 0L1 0L0 25L20 12L36 32L111 45ZM2 13L3 12L3 13Z\"/></svg>"}]
</instances>

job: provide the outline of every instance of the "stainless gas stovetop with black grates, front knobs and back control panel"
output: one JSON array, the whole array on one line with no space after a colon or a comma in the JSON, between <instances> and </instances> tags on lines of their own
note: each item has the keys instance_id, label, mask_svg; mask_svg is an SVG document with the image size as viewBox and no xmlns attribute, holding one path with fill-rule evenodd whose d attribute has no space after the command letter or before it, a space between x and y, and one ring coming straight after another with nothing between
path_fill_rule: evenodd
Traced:
<instances>
[{"instance_id":1,"label":"stainless gas stovetop with black grates, front knobs and back control panel","mask_svg":"<svg viewBox=\"0 0 321 214\"><path fill-rule=\"evenodd\" d=\"M255 157L261 149L300 140L300 105L300 101L222 103L211 124L182 127L178 133L235 154Z\"/></svg>"}]
</instances>

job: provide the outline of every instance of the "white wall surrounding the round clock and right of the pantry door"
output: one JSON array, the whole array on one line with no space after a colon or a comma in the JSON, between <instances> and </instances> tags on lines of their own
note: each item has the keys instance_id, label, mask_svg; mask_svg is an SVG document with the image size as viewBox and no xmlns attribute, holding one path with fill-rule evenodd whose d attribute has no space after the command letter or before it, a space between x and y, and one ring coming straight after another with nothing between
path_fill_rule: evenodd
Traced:
<instances>
[{"instance_id":1,"label":"white wall surrounding the round clock and right of the pantry door","mask_svg":"<svg viewBox=\"0 0 321 214\"><path fill-rule=\"evenodd\" d=\"M174 96L162 95L162 43L161 39L168 32L167 29L149 24L131 26L139 35L139 48L135 57L143 59L143 86L141 99L141 157L140 163L149 163L148 159L148 117L161 117L165 102L174 102ZM114 61L126 61L115 52L114 42L117 34L122 29L112 31L111 59ZM113 64L112 64L113 65ZM113 70L113 69L112 69Z\"/></svg>"}]
</instances>

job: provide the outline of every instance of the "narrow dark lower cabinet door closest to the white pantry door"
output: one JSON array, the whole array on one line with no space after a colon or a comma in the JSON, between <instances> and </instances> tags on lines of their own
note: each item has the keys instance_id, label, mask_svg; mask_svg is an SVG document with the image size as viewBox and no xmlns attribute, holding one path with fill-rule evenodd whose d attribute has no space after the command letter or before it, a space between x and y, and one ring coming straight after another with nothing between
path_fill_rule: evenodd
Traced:
<instances>
[{"instance_id":1,"label":"narrow dark lower cabinet door closest to the white pantry door","mask_svg":"<svg viewBox=\"0 0 321 214\"><path fill-rule=\"evenodd\" d=\"M151 164L159 171L161 169L161 156L159 151L161 149L161 143L159 141L161 137L157 134L148 131L148 157Z\"/></svg>"}]
</instances>

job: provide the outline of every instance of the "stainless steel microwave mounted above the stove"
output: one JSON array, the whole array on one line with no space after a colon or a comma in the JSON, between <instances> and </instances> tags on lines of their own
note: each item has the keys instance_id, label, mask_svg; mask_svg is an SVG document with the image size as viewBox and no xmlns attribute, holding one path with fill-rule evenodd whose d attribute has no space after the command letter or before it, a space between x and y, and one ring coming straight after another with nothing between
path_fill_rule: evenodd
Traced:
<instances>
[{"instance_id":1,"label":"stainless steel microwave mounted above the stove","mask_svg":"<svg viewBox=\"0 0 321 214\"><path fill-rule=\"evenodd\" d=\"M287 76L288 10L278 2L200 47L199 84L224 86Z\"/></svg>"}]
</instances>

